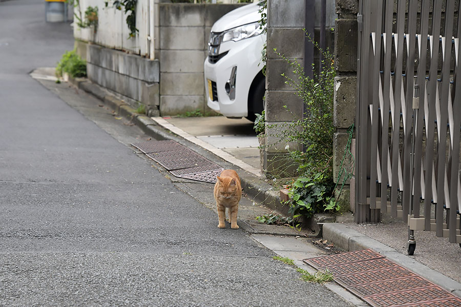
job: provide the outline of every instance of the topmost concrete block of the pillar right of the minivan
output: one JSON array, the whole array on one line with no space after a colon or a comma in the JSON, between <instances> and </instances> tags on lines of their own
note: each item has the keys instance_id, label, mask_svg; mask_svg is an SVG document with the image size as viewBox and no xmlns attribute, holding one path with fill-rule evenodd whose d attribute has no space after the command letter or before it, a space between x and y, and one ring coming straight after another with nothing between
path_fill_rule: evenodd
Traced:
<instances>
[{"instance_id":1,"label":"topmost concrete block of the pillar right of the minivan","mask_svg":"<svg viewBox=\"0 0 461 307\"><path fill-rule=\"evenodd\" d=\"M304 28L304 0L268 1L267 26Z\"/></svg>"}]
</instances>

